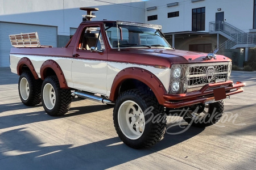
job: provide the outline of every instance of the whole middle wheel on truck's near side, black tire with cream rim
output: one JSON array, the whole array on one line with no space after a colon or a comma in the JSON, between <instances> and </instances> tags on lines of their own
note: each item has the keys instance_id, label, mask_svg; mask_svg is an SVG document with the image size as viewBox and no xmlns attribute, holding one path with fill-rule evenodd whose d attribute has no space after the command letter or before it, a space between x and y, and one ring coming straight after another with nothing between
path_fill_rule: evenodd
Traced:
<instances>
[{"instance_id":1,"label":"whole middle wheel on truck's near side, black tire with cream rim","mask_svg":"<svg viewBox=\"0 0 256 170\"><path fill-rule=\"evenodd\" d=\"M60 88L56 76L44 79L41 91L43 107L49 115L60 116L68 112L71 106L71 91Z\"/></svg>"}]
</instances>

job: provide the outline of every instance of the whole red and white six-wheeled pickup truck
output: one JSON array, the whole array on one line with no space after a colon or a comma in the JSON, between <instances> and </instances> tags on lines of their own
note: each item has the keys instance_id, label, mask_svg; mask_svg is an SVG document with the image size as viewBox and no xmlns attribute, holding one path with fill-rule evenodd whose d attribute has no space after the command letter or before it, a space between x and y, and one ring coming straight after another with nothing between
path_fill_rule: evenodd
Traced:
<instances>
[{"instance_id":1,"label":"whole red and white six-wheeled pickup truck","mask_svg":"<svg viewBox=\"0 0 256 170\"><path fill-rule=\"evenodd\" d=\"M42 101L51 116L71 107L72 96L114 105L115 130L133 148L162 139L167 111L186 109L193 126L215 124L224 99L243 91L230 80L232 62L215 53L176 50L160 25L91 21L97 8L64 48L40 45L38 35L10 35L10 67L19 77L25 105Z\"/></svg>"}]
</instances>

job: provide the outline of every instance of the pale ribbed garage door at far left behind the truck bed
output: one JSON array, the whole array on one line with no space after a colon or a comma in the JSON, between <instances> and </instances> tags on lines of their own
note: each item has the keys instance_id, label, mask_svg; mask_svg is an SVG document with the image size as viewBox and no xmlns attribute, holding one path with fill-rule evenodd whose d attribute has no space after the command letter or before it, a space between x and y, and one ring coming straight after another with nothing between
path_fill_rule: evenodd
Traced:
<instances>
[{"instance_id":1,"label":"pale ribbed garage door at far left behind the truck bed","mask_svg":"<svg viewBox=\"0 0 256 170\"><path fill-rule=\"evenodd\" d=\"M0 22L0 67L9 67L11 43L9 35L38 32L41 45L57 46L57 27Z\"/></svg>"}]
</instances>

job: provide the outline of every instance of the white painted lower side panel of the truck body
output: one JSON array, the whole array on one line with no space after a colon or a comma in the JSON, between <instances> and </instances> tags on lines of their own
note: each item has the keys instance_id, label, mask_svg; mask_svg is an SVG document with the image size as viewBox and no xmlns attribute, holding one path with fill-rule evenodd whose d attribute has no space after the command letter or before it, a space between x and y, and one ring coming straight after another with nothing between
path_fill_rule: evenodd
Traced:
<instances>
[{"instance_id":1,"label":"white painted lower side panel of the truck body","mask_svg":"<svg viewBox=\"0 0 256 170\"><path fill-rule=\"evenodd\" d=\"M163 83L164 88L168 91L170 84L171 69L158 69L153 66L137 65L121 62L105 62L89 59L73 59L65 57L49 56L32 56L11 54L11 72L17 73L16 67L21 58L27 57L35 67L35 71L40 76L40 68L44 61L52 59L56 61L67 81L68 87L79 90L94 92L110 96L111 87L115 76L119 71L128 67L139 67L150 71ZM72 63L73 62L73 63ZM71 69L72 68L72 69Z\"/></svg>"}]
</instances>

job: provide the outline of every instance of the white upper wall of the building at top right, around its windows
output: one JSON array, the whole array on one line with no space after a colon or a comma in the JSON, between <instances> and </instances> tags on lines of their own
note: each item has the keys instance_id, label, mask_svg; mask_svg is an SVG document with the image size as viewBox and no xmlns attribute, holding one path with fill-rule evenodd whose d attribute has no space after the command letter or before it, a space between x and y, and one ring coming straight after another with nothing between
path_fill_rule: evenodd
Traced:
<instances>
[{"instance_id":1,"label":"white upper wall of the building at top right, around its windows","mask_svg":"<svg viewBox=\"0 0 256 170\"><path fill-rule=\"evenodd\" d=\"M179 2L179 5L167 7L168 3ZM187 0L150 0L146 1L145 8L157 6L156 10L145 11L145 22L163 26L163 32L180 32L192 30L192 9L205 7L205 31L209 31L209 22L215 21L216 12L224 12L225 22L249 32L253 28L253 0L205 0L191 2ZM221 11L217 9L221 8ZM180 16L168 18L168 12L180 11ZM158 20L147 22L147 16L158 15Z\"/></svg>"}]
</instances>

